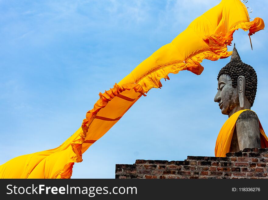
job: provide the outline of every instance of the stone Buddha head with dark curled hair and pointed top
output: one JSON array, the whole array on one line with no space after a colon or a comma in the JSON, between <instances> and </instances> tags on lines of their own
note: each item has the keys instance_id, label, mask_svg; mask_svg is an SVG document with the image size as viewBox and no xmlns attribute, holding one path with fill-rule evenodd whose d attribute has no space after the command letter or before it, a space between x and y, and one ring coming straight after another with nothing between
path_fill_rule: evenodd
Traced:
<instances>
[{"instance_id":1,"label":"stone Buddha head with dark curled hair and pointed top","mask_svg":"<svg viewBox=\"0 0 268 200\"><path fill-rule=\"evenodd\" d=\"M239 110L250 109L257 91L257 74L242 62L234 44L231 61L218 74L218 92L214 101L222 114L229 117Z\"/></svg>"}]
</instances>

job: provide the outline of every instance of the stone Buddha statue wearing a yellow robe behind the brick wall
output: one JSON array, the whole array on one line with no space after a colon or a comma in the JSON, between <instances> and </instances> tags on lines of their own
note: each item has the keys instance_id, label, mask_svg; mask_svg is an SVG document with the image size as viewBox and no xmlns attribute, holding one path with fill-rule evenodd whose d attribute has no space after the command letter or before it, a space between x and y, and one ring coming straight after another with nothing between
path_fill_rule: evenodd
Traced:
<instances>
[{"instance_id":1,"label":"stone Buddha statue wearing a yellow robe behind the brick wall","mask_svg":"<svg viewBox=\"0 0 268 200\"><path fill-rule=\"evenodd\" d=\"M229 116L220 130L215 156L244 148L267 148L268 139L251 107L257 91L257 74L242 62L234 45L231 61L218 74L218 92L214 101L222 114Z\"/></svg>"}]
</instances>

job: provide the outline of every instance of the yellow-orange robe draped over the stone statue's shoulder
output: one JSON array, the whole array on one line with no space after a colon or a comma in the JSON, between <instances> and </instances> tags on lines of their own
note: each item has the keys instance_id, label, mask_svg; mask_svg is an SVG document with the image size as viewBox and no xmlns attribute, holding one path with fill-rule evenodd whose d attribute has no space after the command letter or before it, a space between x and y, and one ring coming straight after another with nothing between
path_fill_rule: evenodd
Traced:
<instances>
[{"instance_id":1,"label":"yellow-orange robe draped over the stone statue's shoulder","mask_svg":"<svg viewBox=\"0 0 268 200\"><path fill-rule=\"evenodd\" d=\"M234 133L234 128L236 125L236 121L239 115L249 110L242 110L238 111L231 115L230 118L224 123L221 127L219 135L217 137L216 146L215 146L215 156L216 157L226 157L226 153L230 152L231 140ZM263 127L259 121L259 128L260 128L260 138L261 138L261 147L268 148L268 138L265 135Z\"/></svg>"}]
</instances>

